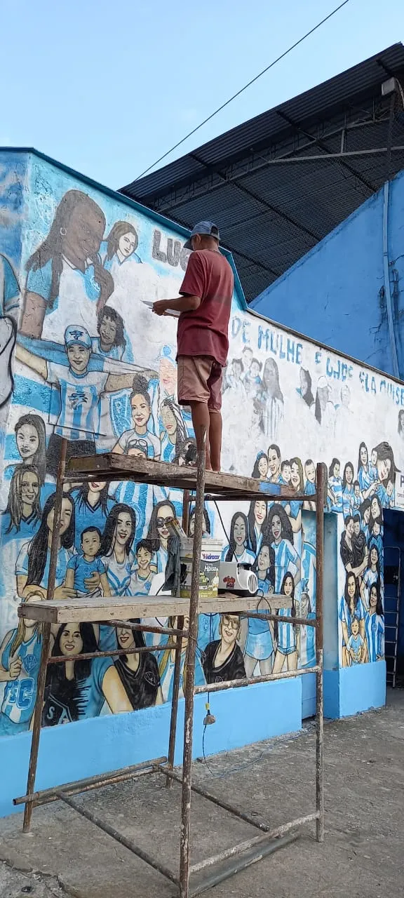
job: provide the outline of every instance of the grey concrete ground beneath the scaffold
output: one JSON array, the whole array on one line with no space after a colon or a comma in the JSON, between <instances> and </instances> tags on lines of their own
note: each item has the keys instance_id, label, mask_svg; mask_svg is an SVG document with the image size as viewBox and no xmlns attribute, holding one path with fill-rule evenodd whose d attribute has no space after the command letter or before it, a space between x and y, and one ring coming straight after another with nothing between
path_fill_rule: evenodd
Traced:
<instances>
[{"instance_id":1,"label":"grey concrete ground beneath the scaffold","mask_svg":"<svg viewBox=\"0 0 404 898\"><path fill-rule=\"evenodd\" d=\"M325 841L313 825L288 847L210 892L212 898L396 898L404 894L404 691L386 709L325 725ZM314 730L194 764L194 779L277 826L314 809ZM214 775L213 775L214 774ZM154 853L178 864L180 786L158 774L78 801ZM254 835L252 827L194 796L192 862ZM60 802L0 821L0 896L171 898L175 888ZM258 832L258 831L257 831Z\"/></svg>"}]
</instances>

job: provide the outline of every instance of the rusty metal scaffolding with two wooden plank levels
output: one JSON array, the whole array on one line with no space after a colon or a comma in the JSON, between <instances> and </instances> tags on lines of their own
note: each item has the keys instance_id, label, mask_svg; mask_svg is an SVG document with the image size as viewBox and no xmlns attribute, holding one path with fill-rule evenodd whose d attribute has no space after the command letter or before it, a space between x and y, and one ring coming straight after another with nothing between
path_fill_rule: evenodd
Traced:
<instances>
[{"instance_id":1,"label":"rusty metal scaffolding with two wooden plank levels","mask_svg":"<svg viewBox=\"0 0 404 898\"><path fill-rule=\"evenodd\" d=\"M77 601L57 601L53 598L55 591L57 571L57 547L58 533L62 509L62 498L66 483L83 482L93 480L94 475L102 480L135 480L136 482L153 483L162 486L171 486L184 490L183 524L187 532L189 517L189 490L196 490L195 498L195 524L193 538L193 560L190 599L177 596L129 596L111 597L108 599L89 598ZM242 680L231 682L213 683L210 685L195 687L195 657L198 638L198 613L209 612L242 612L245 616L262 618L266 621L283 621L285 617L279 614L259 613L257 611L256 596L238 597L234 595L221 595L217 599L202 599L199 596L199 559L202 546L204 503L206 501L246 500L260 498L266 501L284 501L293 498L294 501L305 501L306 496L299 496L289 487L278 486L267 482L252 480L250 478L236 477L229 474L216 474L205 469L205 453L198 453L197 470L164 462L148 462L136 457L127 457L113 453L95 456L83 456L72 458L66 463L66 440L62 441L61 453L57 474L57 489L54 512L54 526L50 549L49 576L47 588L47 602L31 602L29 605L22 603L18 613L22 618L30 618L41 621L43 626L42 648L40 659L40 671L38 676L37 697L33 718L31 756L28 772L26 795L14 798L14 805L25 805L23 831L28 832L31 826L31 814L34 806L40 806L53 801L63 801L73 808L85 819L94 823L103 832L108 833L113 839L119 841L138 858L158 870L178 888L180 898L190 898L191 895L200 894L206 889L223 881L228 876L247 867L250 863L266 857L272 851L281 848L294 836L287 833L295 830L303 823L315 821L316 839L323 841L323 515L325 504L326 473L324 465L317 465L316 495L310 496L310 502L316 506L316 618L315 621L300 617L287 618L287 623L294 627L302 624L315 628L316 635L316 664L310 669L287 671L280 674L267 674L257 677L246 677ZM273 594L270 598L271 610L285 604L285 596ZM129 619L139 619L165 614L167 617L177 616L177 627L152 627L142 624L128 624ZM184 617L189 618L188 630L184 629ZM47 668L50 664L60 663L65 660L62 656L51 656L51 627L72 621L109 622L112 626L130 626L132 629L161 633L169 637L169 642L164 648L175 650L173 692L171 701L171 726L167 756L154 758L150 761L135 764L122 770L113 770L110 773L102 773L87 779L76 780L62 786L35 791L35 778L37 771L38 753L40 747L40 726L42 708L45 693ZM185 658L185 673L183 678L183 690L185 698L185 726L183 739L182 773L174 770L174 755L176 742L177 715L180 694L180 666L182 639L187 638L187 650ZM116 649L104 653L82 653L75 656L75 660L94 658L101 655L127 655L141 653L142 651L159 651L161 647L136 647L131 649ZM245 813L239 808L233 807L212 795L206 789L192 783L192 736L194 697L201 692L215 692L233 688L240 688L257 682L271 682L303 674L316 674L316 806L315 811L306 814L282 825L271 828L267 823L258 822L253 815ZM122 782L127 779L136 779L149 773L160 772L166 777L166 785L171 787L173 781L179 782L182 790L181 799L181 827L180 827L180 870L179 874L163 865L158 858L141 849L134 841L127 839L122 833L117 832L109 823L92 814L87 808L75 802L74 796L87 792L93 788L99 788L110 783ZM250 839L242 841L233 848L206 858L197 864L189 862L189 832L191 814L192 792L205 797L216 806L223 808L239 819L250 823L259 835L253 835ZM232 859L233 858L233 859ZM229 860L230 864L225 869L217 867L220 862ZM207 870L206 870L207 868ZM205 872L204 872L205 871Z\"/></svg>"}]
</instances>

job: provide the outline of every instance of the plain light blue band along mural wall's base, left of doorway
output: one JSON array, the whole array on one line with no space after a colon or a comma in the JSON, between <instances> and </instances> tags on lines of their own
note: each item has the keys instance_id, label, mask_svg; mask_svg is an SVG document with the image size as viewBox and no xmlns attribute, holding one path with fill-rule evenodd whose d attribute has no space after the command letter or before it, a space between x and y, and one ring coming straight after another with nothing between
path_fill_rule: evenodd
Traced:
<instances>
[{"instance_id":1,"label":"plain light blue band along mural wall's base, left of doorway","mask_svg":"<svg viewBox=\"0 0 404 898\"><path fill-rule=\"evenodd\" d=\"M196 696L194 758L203 753L205 702L204 695ZM211 696L210 707L216 723L206 727L206 755L292 733L302 726L301 679L218 692ZM36 788L50 788L166 754L170 714L171 705L166 704L43 729ZM180 700L176 764L182 756L183 716L184 700ZM31 733L0 739L0 816L23 809L13 807L13 797L25 794L30 744Z\"/></svg>"}]
</instances>

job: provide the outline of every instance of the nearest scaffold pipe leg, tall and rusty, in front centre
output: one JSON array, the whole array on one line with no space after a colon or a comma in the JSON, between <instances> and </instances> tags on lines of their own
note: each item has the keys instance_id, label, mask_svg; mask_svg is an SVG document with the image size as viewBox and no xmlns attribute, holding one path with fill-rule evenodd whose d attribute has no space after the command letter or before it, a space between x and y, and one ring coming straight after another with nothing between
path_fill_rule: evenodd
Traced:
<instances>
[{"instance_id":1,"label":"nearest scaffold pipe leg, tall and rusty, in front centre","mask_svg":"<svg viewBox=\"0 0 404 898\"><path fill-rule=\"evenodd\" d=\"M195 652L198 638L198 598L199 569L202 548L205 464L206 464L206 428L201 431L200 450L198 452L197 497L195 504L194 541L192 550L191 594L189 601L189 636L184 670L184 752L183 779L181 797L181 832L180 832L180 898L189 898L189 828L190 802L192 782L192 726L194 717L194 680Z\"/></svg>"}]
</instances>

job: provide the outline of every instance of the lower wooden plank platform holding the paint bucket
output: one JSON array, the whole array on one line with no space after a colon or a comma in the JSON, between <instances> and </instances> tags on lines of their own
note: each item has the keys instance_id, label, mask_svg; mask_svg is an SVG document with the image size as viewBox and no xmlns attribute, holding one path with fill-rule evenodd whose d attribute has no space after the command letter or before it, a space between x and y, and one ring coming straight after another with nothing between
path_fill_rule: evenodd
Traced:
<instances>
[{"instance_id":1,"label":"lower wooden plank platform holding the paint bucket","mask_svg":"<svg viewBox=\"0 0 404 898\"><path fill-rule=\"evenodd\" d=\"M238 595L224 594L217 599L199 598L199 614L216 614L217 612L271 612L275 608L291 607L292 601L285 595L270 596L263 600L258 595L242 598ZM110 599L52 599L44 602L22 603L18 606L18 616L31 621L47 621L48 623L74 623L75 621L129 621L132 618L189 616L189 599L180 599L174 595L133 595L122 598L114 596Z\"/></svg>"}]
</instances>

